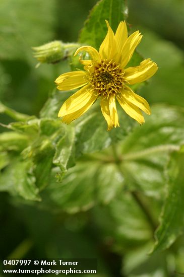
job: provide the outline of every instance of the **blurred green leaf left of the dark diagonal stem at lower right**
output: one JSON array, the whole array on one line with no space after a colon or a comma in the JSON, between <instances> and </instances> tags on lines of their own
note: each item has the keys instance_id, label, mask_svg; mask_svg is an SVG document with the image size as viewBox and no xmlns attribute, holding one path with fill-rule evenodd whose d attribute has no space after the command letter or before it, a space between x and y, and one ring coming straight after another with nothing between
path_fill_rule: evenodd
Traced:
<instances>
[{"instance_id":1,"label":"blurred green leaf left of the dark diagonal stem at lower right","mask_svg":"<svg viewBox=\"0 0 184 277\"><path fill-rule=\"evenodd\" d=\"M118 253L135 250L152 240L152 230L139 204L130 192L122 190L106 206L93 209L100 233Z\"/></svg>"}]
</instances>

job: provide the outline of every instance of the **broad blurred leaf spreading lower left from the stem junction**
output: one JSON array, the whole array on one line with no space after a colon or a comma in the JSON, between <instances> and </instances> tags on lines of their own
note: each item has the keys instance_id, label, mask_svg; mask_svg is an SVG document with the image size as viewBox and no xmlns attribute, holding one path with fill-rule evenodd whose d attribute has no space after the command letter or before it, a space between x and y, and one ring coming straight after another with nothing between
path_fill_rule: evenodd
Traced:
<instances>
[{"instance_id":1,"label":"broad blurred leaf spreading lower left from the stem junction","mask_svg":"<svg viewBox=\"0 0 184 277\"><path fill-rule=\"evenodd\" d=\"M123 178L114 164L84 159L68 170L62 182L51 178L44 193L57 209L77 213L95 203L109 203L122 186Z\"/></svg>"}]
</instances>

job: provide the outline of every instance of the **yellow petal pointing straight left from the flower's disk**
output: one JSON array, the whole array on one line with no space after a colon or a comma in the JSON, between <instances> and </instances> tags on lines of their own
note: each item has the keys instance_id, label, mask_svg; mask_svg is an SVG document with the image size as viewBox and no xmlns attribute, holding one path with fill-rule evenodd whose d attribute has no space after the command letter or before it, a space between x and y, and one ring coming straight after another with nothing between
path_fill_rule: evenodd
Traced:
<instances>
[{"instance_id":1,"label":"yellow petal pointing straight left from the flower's disk","mask_svg":"<svg viewBox=\"0 0 184 277\"><path fill-rule=\"evenodd\" d=\"M85 71L74 71L60 75L55 83L58 90L74 90L87 84Z\"/></svg>"}]
</instances>

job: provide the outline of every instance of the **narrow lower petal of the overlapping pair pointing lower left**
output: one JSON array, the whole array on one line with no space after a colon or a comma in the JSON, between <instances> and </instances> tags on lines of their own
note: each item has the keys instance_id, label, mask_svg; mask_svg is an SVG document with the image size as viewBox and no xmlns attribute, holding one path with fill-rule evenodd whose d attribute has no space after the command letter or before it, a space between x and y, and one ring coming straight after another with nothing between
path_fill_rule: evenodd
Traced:
<instances>
[{"instance_id":1,"label":"narrow lower petal of the overlapping pair pointing lower left","mask_svg":"<svg viewBox=\"0 0 184 277\"><path fill-rule=\"evenodd\" d=\"M75 120L76 118L80 117L81 115L83 115L92 105L93 103L95 102L96 100L96 96L94 96L92 94L89 102L84 105L84 107L82 107L81 109L77 110L76 112L73 112L73 113L70 113L68 115L65 115L62 119L62 121L64 123L67 123L69 124L70 122L72 122L73 120Z\"/></svg>"}]
</instances>

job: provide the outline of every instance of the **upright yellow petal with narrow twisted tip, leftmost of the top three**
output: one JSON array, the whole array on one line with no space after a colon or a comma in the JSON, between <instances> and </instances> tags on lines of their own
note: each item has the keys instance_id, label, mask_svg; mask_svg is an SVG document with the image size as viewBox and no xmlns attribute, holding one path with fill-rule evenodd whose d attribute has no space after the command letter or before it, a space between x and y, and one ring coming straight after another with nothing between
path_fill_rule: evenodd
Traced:
<instances>
[{"instance_id":1,"label":"upright yellow petal with narrow twisted tip, leftmost of the top three","mask_svg":"<svg viewBox=\"0 0 184 277\"><path fill-rule=\"evenodd\" d=\"M108 28L106 37L104 38L102 44L100 45L99 53L102 58L112 59L116 54L116 45L114 41L114 33L110 28L108 21L105 20Z\"/></svg>"}]
</instances>

